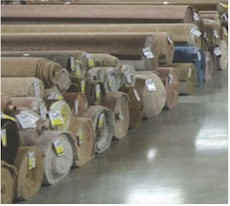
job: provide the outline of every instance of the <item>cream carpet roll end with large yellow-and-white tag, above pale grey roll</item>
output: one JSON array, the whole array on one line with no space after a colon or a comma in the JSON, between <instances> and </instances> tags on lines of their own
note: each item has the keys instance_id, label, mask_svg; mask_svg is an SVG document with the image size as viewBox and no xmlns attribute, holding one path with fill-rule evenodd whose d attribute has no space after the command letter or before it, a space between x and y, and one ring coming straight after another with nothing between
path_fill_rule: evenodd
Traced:
<instances>
[{"instance_id":1,"label":"cream carpet roll end with large yellow-and-white tag, above pale grey roll","mask_svg":"<svg viewBox=\"0 0 230 206\"><path fill-rule=\"evenodd\" d=\"M49 118L52 128L68 130L72 117L72 110L64 100L56 101L49 106Z\"/></svg>"}]
</instances>

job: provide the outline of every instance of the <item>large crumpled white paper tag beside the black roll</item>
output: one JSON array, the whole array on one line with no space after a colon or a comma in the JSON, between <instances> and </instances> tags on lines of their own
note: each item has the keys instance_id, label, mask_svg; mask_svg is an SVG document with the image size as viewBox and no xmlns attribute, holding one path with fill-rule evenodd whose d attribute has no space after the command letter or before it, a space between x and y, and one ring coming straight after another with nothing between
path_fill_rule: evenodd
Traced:
<instances>
[{"instance_id":1,"label":"large crumpled white paper tag beside the black roll","mask_svg":"<svg viewBox=\"0 0 230 206\"><path fill-rule=\"evenodd\" d=\"M23 129L36 128L36 122L39 120L37 116L28 111L21 111L16 118Z\"/></svg>"}]
</instances>

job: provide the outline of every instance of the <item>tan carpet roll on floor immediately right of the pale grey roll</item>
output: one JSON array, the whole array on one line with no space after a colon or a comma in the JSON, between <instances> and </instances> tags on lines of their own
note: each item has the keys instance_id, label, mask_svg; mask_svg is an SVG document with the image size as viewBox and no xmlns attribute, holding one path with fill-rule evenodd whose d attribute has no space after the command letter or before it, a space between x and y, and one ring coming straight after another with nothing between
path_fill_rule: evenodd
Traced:
<instances>
[{"instance_id":1,"label":"tan carpet roll on floor immediately right of the pale grey roll","mask_svg":"<svg viewBox=\"0 0 230 206\"><path fill-rule=\"evenodd\" d=\"M77 142L77 158L74 164L82 167L94 158L96 137L93 123L89 118L73 116L69 130L73 133Z\"/></svg>"}]
</instances>

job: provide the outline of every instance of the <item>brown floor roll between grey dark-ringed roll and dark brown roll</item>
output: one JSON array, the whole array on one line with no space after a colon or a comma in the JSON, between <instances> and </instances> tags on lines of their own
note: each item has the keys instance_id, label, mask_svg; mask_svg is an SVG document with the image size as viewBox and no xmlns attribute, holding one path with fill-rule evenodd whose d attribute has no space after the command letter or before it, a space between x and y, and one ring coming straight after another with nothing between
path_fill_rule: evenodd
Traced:
<instances>
[{"instance_id":1,"label":"brown floor roll between grey dark-ringed roll and dark brown roll","mask_svg":"<svg viewBox=\"0 0 230 206\"><path fill-rule=\"evenodd\" d=\"M115 120L115 133L117 139L128 134L129 129L129 103L128 95L123 92L109 92L102 101L103 106L113 111Z\"/></svg>"}]
</instances>

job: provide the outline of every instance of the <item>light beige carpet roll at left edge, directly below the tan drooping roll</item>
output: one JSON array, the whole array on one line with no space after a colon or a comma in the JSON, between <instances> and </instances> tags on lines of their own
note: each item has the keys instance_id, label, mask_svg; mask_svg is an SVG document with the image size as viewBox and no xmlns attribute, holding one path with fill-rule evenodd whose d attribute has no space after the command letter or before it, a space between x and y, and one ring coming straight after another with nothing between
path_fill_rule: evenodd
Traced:
<instances>
[{"instance_id":1,"label":"light beige carpet roll at left edge, directly below the tan drooping roll","mask_svg":"<svg viewBox=\"0 0 230 206\"><path fill-rule=\"evenodd\" d=\"M1 78L2 94L12 97L39 97L45 95L44 84L37 78Z\"/></svg>"}]
</instances>

